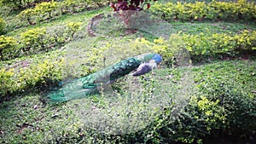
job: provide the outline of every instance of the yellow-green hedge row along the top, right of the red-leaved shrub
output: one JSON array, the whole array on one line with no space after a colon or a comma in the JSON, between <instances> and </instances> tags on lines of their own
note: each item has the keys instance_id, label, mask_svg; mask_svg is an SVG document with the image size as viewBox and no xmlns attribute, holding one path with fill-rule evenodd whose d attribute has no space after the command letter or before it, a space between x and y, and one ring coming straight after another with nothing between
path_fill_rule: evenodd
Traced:
<instances>
[{"instance_id":1,"label":"yellow-green hedge row along the top, right of the red-leaved shrub","mask_svg":"<svg viewBox=\"0 0 256 144\"><path fill-rule=\"evenodd\" d=\"M254 3L247 0L212 3L155 3L151 12L164 20L255 20Z\"/></svg>"}]
</instances>

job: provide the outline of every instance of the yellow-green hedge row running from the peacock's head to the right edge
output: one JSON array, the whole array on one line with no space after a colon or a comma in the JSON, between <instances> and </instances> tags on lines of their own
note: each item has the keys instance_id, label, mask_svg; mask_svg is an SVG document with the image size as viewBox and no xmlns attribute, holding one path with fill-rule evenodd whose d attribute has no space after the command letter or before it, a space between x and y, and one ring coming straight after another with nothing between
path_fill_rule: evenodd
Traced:
<instances>
[{"instance_id":1,"label":"yellow-green hedge row running from the peacock's head to the right edge","mask_svg":"<svg viewBox=\"0 0 256 144\"><path fill-rule=\"evenodd\" d=\"M169 41L156 39L154 49L164 56L167 66L172 66L176 56L175 48L185 48L189 51L192 60L198 60L201 57L218 57L220 55L236 55L242 50L255 49L256 32L243 31L235 36L225 33L200 33L199 35L189 35L185 33L172 34ZM176 43L173 43L176 42ZM179 43L177 43L179 42ZM169 64L168 64L169 62Z\"/></svg>"}]
</instances>

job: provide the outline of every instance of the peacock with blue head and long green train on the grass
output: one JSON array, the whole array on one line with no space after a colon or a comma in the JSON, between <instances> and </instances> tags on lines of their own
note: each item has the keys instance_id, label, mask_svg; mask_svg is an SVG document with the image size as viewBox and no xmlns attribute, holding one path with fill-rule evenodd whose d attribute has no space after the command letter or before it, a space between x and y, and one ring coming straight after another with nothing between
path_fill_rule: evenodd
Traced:
<instances>
[{"instance_id":1,"label":"peacock with blue head and long green train on the grass","mask_svg":"<svg viewBox=\"0 0 256 144\"><path fill-rule=\"evenodd\" d=\"M57 103L99 94L98 86L111 84L129 73L137 77L151 72L153 68L160 65L161 60L161 55L154 53L121 60L86 77L69 80L65 84L60 82L58 87L47 90L43 100L47 103Z\"/></svg>"}]
</instances>

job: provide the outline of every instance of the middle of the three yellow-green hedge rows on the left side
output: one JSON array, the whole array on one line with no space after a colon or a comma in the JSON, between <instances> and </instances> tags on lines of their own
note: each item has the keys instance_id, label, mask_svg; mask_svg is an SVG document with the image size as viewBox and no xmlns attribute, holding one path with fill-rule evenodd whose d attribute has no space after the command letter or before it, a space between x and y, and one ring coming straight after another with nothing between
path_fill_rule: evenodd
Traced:
<instances>
[{"instance_id":1,"label":"middle of the three yellow-green hedge rows on the left side","mask_svg":"<svg viewBox=\"0 0 256 144\"><path fill-rule=\"evenodd\" d=\"M58 49L73 39L82 26L81 22L70 22L49 29L33 28L20 33L20 37L0 37L0 60L12 60L24 55ZM19 42L19 43L18 43Z\"/></svg>"}]
</instances>

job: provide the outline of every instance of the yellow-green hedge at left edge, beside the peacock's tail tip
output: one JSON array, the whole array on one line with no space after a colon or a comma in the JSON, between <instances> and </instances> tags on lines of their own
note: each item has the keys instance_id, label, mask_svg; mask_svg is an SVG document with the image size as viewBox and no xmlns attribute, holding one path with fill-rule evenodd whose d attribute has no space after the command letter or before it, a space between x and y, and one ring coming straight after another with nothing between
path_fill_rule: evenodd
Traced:
<instances>
[{"instance_id":1,"label":"yellow-green hedge at left edge, beside the peacock's tail tip","mask_svg":"<svg viewBox=\"0 0 256 144\"><path fill-rule=\"evenodd\" d=\"M63 60L43 60L38 64L20 68L19 73L14 72L13 68L9 70L1 68L0 98L6 98L16 92L23 92L25 89L46 87L48 84L61 80L62 65Z\"/></svg>"}]
</instances>

